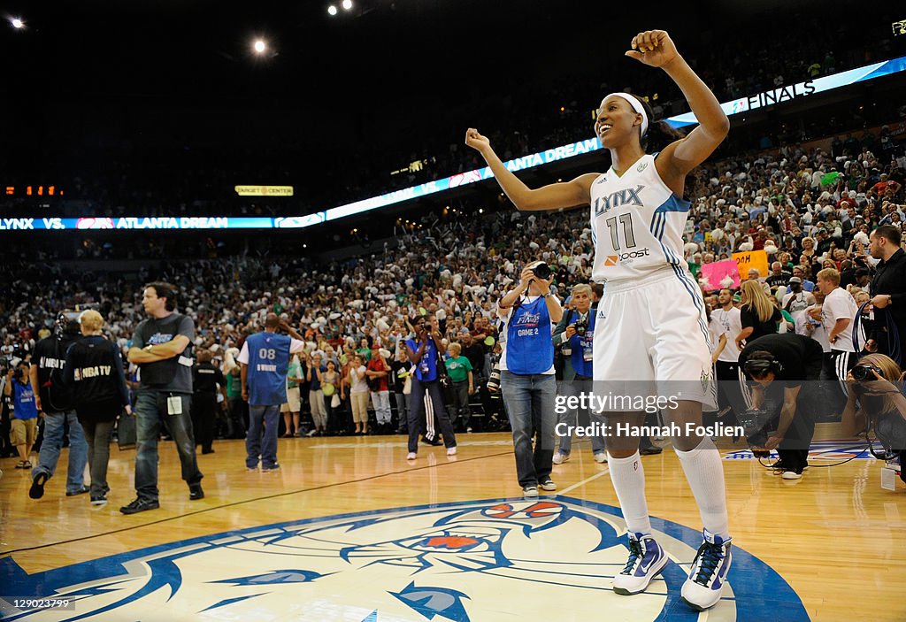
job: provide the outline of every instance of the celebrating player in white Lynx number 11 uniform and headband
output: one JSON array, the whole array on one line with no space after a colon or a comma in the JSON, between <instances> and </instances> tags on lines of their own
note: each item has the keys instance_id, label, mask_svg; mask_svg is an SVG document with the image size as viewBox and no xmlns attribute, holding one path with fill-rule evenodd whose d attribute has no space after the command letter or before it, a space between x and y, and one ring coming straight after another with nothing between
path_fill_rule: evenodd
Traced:
<instances>
[{"instance_id":1,"label":"celebrating player in white Lynx number 11 uniform and headband","mask_svg":"<svg viewBox=\"0 0 906 622\"><path fill-rule=\"evenodd\" d=\"M656 392L676 398L677 406L664 414L686 430L688 423L700 425L702 402L713 399L713 375L704 302L682 261L690 204L681 197L686 175L727 136L729 121L668 33L637 34L626 55L667 72L689 101L699 127L679 139L666 123L651 120L651 109L643 101L611 93L602 100L594 124L602 146L610 149L610 170L538 189L526 187L508 171L476 129L467 130L466 144L481 153L520 210L591 206L593 280L606 282L594 330L595 393L612 393L607 389L613 381L620 382L623 391L636 390L632 387L641 381L648 397ZM648 155L649 142L663 138L670 144L652 144L662 149ZM623 595L647 589L668 562L651 537L639 435L621 435L615 427L639 426L643 418L642 412L608 412L610 473L629 531L629 561L613 580L614 591ZM682 597L703 610L720 599L731 561L723 466L706 435L677 436L673 446L705 527Z\"/></svg>"}]
</instances>

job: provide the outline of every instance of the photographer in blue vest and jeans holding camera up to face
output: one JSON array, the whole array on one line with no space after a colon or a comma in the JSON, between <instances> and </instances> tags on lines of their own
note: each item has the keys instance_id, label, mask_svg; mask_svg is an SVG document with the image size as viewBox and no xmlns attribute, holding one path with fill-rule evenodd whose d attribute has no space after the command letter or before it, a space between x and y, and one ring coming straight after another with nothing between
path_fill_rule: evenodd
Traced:
<instances>
[{"instance_id":1,"label":"photographer in blue vest and jeans holding camera up to face","mask_svg":"<svg viewBox=\"0 0 906 622\"><path fill-rule=\"evenodd\" d=\"M551 329L563 319L563 309L551 292L550 279L550 266L529 263L516 288L506 293L497 308L506 332L499 361L500 390L513 428L516 475L526 497L538 496L539 486L545 491L557 488L551 480L556 424Z\"/></svg>"}]
</instances>

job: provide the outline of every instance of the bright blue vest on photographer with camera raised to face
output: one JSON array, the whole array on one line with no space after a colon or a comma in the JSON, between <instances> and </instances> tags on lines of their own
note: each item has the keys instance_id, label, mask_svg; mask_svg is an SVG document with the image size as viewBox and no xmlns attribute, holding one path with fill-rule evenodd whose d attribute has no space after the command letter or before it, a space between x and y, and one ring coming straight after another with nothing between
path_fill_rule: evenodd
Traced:
<instances>
[{"instance_id":1,"label":"bright blue vest on photographer with camera raised to face","mask_svg":"<svg viewBox=\"0 0 906 622\"><path fill-rule=\"evenodd\" d=\"M541 296L513 309L506 325L506 368L513 374L543 374L554 364L551 315Z\"/></svg>"}]
</instances>

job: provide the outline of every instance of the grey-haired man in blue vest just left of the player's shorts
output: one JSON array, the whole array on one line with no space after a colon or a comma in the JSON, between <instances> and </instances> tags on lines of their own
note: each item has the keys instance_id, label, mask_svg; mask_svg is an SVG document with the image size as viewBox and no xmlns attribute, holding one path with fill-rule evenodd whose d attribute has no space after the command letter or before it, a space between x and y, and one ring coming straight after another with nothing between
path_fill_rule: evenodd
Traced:
<instances>
[{"instance_id":1,"label":"grey-haired man in blue vest just left of the player's shorts","mask_svg":"<svg viewBox=\"0 0 906 622\"><path fill-rule=\"evenodd\" d=\"M573 287L570 309L564 311L563 319L554 329L554 347L559 347L563 354L564 370L563 380L558 383L558 395L562 397L579 397L592 392L592 363L594 336L594 313L592 312L592 287L580 283ZM603 419L593 409L586 408L589 422L598 422L603 425ZM582 417L582 419L585 418ZM579 417L579 409L569 408L557 418L557 436L560 445L554 454L554 464L563 464L569 460L573 447L572 427L584 422ZM564 430L564 427L566 428ZM603 429L603 427L599 428ZM565 434L564 434L565 432ZM592 453L594 462L607 462L607 452L604 450L603 435L592 436Z\"/></svg>"}]
</instances>

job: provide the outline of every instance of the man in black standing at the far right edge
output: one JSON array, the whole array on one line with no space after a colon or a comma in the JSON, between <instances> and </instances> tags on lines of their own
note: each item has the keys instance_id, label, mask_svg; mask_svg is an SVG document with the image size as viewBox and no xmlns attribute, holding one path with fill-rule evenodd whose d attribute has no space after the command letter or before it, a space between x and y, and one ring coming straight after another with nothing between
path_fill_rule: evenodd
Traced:
<instances>
[{"instance_id":1,"label":"man in black standing at the far right edge","mask_svg":"<svg viewBox=\"0 0 906 622\"><path fill-rule=\"evenodd\" d=\"M879 226L869 237L869 252L875 259L881 260L872 279L872 305L875 310L888 311L900 333L900 342L890 342L887 322L876 313L876 329L865 349L888 356L897 349L897 345L902 353L906 343L906 254L900 247L901 241L900 231L892 225Z\"/></svg>"}]
</instances>

